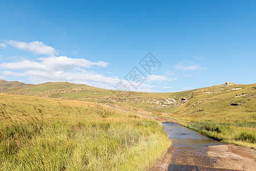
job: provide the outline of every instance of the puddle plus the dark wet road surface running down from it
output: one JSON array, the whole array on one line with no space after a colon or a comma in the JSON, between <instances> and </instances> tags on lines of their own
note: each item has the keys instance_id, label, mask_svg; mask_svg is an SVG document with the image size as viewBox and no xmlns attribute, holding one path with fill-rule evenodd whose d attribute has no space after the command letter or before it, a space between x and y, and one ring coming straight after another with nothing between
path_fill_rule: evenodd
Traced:
<instances>
[{"instance_id":1,"label":"puddle plus the dark wet road surface running down from it","mask_svg":"<svg viewBox=\"0 0 256 171\"><path fill-rule=\"evenodd\" d=\"M216 159L207 155L208 146L224 144L177 123L163 122L162 126L173 146L168 170L228 170L214 168Z\"/></svg>"}]
</instances>

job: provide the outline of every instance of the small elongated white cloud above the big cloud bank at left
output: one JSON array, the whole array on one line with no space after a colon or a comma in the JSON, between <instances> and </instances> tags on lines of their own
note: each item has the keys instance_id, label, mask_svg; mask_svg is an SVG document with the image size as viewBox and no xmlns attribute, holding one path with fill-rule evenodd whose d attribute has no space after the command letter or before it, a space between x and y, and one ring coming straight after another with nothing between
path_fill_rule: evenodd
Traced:
<instances>
[{"instance_id":1,"label":"small elongated white cloud above the big cloud bank at left","mask_svg":"<svg viewBox=\"0 0 256 171\"><path fill-rule=\"evenodd\" d=\"M44 54L44 55L50 55L50 56L55 56L55 54L58 54L55 48L51 46L46 46L45 44L43 44L43 42L35 41L35 42L26 43L26 42L18 42L15 40L9 40L7 41L7 43L16 48L34 52L35 54Z\"/></svg>"}]
</instances>

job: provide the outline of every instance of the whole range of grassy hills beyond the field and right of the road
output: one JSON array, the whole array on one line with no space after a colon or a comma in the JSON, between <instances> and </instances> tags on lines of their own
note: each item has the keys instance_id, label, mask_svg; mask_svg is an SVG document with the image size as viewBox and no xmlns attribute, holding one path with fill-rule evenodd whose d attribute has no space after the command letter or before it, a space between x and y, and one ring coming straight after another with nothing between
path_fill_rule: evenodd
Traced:
<instances>
[{"instance_id":1,"label":"whole range of grassy hills beyond the field and right of the road","mask_svg":"<svg viewBox=\"0 0 256 171\"><path fill-rule=\"evenodd\" d=\"M223 84L174 93L147 93L60 82L12 88L2 93L111 103L131 111L170 117L225 143L256 148L255 87L256 84Z\"/></svg>"}]
</instances>

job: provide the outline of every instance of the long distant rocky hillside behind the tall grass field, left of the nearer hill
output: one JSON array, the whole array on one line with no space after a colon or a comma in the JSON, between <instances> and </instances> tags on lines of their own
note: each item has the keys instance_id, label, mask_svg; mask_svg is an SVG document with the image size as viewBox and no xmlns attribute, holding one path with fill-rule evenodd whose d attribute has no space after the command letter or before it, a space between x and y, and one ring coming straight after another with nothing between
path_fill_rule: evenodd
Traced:
<instances>
[{"instance_id":1,"label":"long distant rocky hillside behind the tall grass field, left of the nearer hill","mask_svg":"<svg viewBox=\"0 0 256 171\"><path fill-rule=\"evenodd\" d=\"M72 84L67 82L43 83L2 91L13 95L27 95L91 101L95 103L111 103L140 112L168 112L184 104L192 95L192 91L176 93L146 93L112 91L109 89Z\"/></svg>"}]
</instances>

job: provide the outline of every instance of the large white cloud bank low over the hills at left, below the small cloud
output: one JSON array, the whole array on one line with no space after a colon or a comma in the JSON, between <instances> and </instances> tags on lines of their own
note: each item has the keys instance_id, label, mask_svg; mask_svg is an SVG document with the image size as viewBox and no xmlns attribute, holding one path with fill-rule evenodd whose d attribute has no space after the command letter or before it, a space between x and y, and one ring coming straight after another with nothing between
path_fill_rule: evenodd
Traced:
<instances>
[{"instance_id":1,"label":"large white cloud bank low over the hills at left, below the small cloud","mask_svg":"<svg viewBox=\"0 0 256 171\"><path fill-rule=\"evenodd\" d=\"M117 83L122 81L131 91L156 91L151 89L155 86L149 84L142 83L139 89L135 89L127 80L86 70L86 68L91 68L92 66L106 67L107 65L108 63L105 62L91 62L86 59L59 56L37 58L36 61L25 59L13 63L0 63L0 68L9 70L2 72L5 76L26 77L34 84L44 82L71 82L113 89Z\"/></svg>"}]
</instances>

